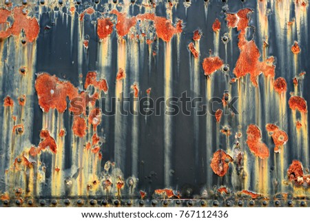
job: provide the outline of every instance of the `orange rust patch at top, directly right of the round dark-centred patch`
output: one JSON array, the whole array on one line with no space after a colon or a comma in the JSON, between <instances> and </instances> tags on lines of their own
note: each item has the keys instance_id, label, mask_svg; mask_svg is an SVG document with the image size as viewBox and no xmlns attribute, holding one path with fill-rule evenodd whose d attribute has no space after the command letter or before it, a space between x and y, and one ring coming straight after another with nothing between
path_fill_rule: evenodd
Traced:
<instances>
[{"instance_id":1,"label":"orange rust patch at top, directly right of the round dark-centred patch","mask_svg":"<svg viewBox=\"0 0 310 221\"><path fill-rule=\"evenodd\" d=\"M116 14L117 23L116 23L116 31L119 36L125 36L130 32L130 28L136 25L136 17L127 18L126 13L118 12L117 10L112 10L111 14Z\"/></svg>"}]
</instances>

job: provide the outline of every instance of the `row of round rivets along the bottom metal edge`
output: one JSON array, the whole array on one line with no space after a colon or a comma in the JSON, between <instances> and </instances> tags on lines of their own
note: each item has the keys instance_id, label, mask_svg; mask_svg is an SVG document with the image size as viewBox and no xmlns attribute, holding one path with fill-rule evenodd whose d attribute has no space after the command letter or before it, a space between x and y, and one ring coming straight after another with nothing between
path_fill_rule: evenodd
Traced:
<instances>
[{"instance_id":1,"label":"row of round rivets along the bottom metal edge","mask_svg":"<svg viewBox=\"0 0 310 221\"><path fill-rule=\"evenodd\" d=\"M175 201L175 204L177 204L177 205L182 204L182 200L173 200L173 201ZM192 206L194 206L195 201L196 201L196 200L187 200L187 203L186 203L186 204L187 204L188 207L192 207ZM2 202L3 202L4 205L8 205L8 204L10 203L9 200L3 200ZM19 205L22 204L22 201L21 201L21 200L16 200L15 203L19 206ZM71 204L71 202L70 202L69 199L63 200L63 203L64 203L65 205L70 205L70 204ZM89 204L90 204L91 206L94 206L96 203L97 203L96 200L90 200L90 201L89 201ZM34 201L33 201L33 200L28 200L28 205L29 205L29 206L32 206L33 204L34 204ZM43 207L43 206L45 206L47 203L46 203L46 200L39 200L39 204ZM56 206L56 204L58 204L58 201L57 201L57 200L52 200L52 201L51 201L51 204L52 204L53 206ZM76 200L76 204L77 204L78 206L81 206L81 205L84 204L84 201L83 201L82 199ZM107 204L109 204L109 203L108 203L107 200L101 200L101 204L102 204L103 206L107 206ZM115 206L120 206L120 205L121 205L121 201L120 201L120 200L114 200L113 204L114 204ZM127 206L132 206L132 200L127 200L127 202L126 202L125 204L127 204ZM143 207L143 206L145 205L145 200L139 200L139 201L138 201L138 204L139 204L141 207ZM158 204L158 200L151 200L151 204L152 204L152 206L155 207L156 204ZM163 200L163 206L167 206L168 204L169 204L169 201L168 201L168 200ZM250 200L250 201L249 201L249 206L250 206L250 207L254 207L255 204L256 204L256 202L255 202L254 200ZM276 207L280 207L280 206L281 206L280 200L274 201L273 204L274 204L274 206L276 206ZM200 200L200 206L205 207L206 205L207 205L207 202L206 202L205 200ZM220 205L220 202L218 202L218 200L214 200L214 201L212 202L212 206L214 206L214 207L218 207L219 205ZM229 200L225 201L225 206L226 206L226 207L231 207L232 205L233 205L233 203L232 203L231 201L229 201ZM242 207L242 206L244 205L244 202L243 202L242 200L238 200L238 202L237 202L236 205L237 205L238 207ZM262 206L263 206L263 207L266 207L267 205L268 205L268 202L267 202L266 200L262 201ZM306 203L305 201L300 201L299 205L300 205L300 207L305 207L305 206L307 205L307 203ZM198 206L198 205L196 205L196 206ZM288 200L288 201L287 201L287 206L293 207L293 200Z\"/></svg>"}]
</instances>

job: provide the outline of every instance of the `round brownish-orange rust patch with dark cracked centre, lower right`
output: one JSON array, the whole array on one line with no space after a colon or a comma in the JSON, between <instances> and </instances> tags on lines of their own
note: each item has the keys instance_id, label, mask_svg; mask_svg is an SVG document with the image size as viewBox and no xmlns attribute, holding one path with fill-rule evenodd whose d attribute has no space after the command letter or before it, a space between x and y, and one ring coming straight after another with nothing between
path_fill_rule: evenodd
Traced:
<instances>
[{"instance_id":1,"label":"round brownish-orange rust patch with dark cracked centre, lower right","mask_svg":"<svg viewBox=\"0 0 310 221\"><path fill-rule=\"evenodd\" d=\"M232 162L233 158L223 151L223 149L219 149L213 155L211 160L211 169L218 176L224 176L229 169L229 162Z\"/></svg>"}]
</instances>

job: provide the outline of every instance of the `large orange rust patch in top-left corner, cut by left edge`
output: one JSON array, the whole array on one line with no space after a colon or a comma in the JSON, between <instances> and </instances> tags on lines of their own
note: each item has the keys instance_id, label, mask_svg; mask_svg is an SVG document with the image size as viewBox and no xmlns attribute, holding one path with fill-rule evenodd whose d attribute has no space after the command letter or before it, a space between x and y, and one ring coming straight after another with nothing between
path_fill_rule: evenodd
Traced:
<instances>
[{"instance_id":1,"label":"large orange rust patch in top-left corner, cut by left edge","mask_svg":"<svg viewBox=\"0 0 310 221\"><path fill-rule=\"evenodd\" d=\"M8 36L14 35L18 36L21 31L25 33L25 40L28 42L33 42L37 39L39 34L39 23L36 18L28 17L28 11L24 13L25 8L15 7L12 11L1 10L0 23L7 23L7 19L10 15L13 17L12 25L6 30L0 31L0 38L7 38ZM10 14L8 13L10 12Z\"/></svg>"}]
</instances>

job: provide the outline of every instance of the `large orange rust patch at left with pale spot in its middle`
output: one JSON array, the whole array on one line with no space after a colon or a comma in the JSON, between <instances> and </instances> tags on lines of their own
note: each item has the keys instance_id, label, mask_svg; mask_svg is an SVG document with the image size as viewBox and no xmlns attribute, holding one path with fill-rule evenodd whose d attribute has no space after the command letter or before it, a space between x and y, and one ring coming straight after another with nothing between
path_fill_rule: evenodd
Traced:
<instances>
[{"instance_id":1,"label":"large orange rust patch at left with pale spot in its middle","mask_svg":"<svg viewBox=\"0 0 310 221\"><path fill-rule=\"evenodd\" d=\"M38 74L34 86L43 112L56 108L60 113L63 113L67 109L67 96L72 100L79 95L72 83L60 81L59 78L48 73Z\"/></svg>"}]
</instances>

